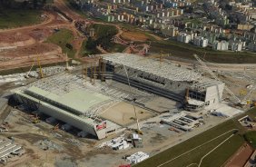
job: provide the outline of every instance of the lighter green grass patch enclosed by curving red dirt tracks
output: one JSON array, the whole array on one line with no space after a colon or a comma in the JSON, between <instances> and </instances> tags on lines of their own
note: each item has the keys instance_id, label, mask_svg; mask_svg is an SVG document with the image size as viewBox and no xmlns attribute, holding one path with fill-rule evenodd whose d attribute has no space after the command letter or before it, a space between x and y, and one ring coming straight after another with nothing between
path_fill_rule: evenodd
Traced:
<instances>
[{"instance_id":1,"label":"lighter green grass patch enclosed by curving red dirt tracks","mask_svg":"<svg viewBox=\"0 0 256 167\"><path fill-rule=\"evenodd\" d=\"M74 35L72 34L72 31L67 29L60 29L59 32L54 33L48 37L45 43L53 43L59 45L62 48L64 54L67 53L70 58L74 58L75 50L66 47L66 44L71 44L73 40Z\"/></svg>"}]
</instances>

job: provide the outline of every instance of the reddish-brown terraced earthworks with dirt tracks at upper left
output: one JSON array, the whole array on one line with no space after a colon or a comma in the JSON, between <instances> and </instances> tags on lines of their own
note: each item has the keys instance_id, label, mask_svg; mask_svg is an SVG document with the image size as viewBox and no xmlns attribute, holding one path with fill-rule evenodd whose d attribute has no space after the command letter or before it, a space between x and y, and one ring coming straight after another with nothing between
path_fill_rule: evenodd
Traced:
<instances>
[{"instance_id":1,"label":"reddish-brown terraced earthworks with dirt tracks at upper left","mask_svg":"<svg viewBox=\"0 0 256 167\"><path fill-rule=\"evenodd\" d=\"M66 15L75 20L83 19L64 5L63 1L54 1L54 5L61 9ZM62 50L55 44L43 44L48 36L54 33L54 29L66 28L73 32L74 49L78 57L84 37L74 27L74 22L64 20L54 11L44 12L46 18L38 25L29 25L14 29L0 30L0 70L30 66L31 57L34 54L44 55L41 64L54 64L64 62Z\"/></svg>"}]
</instances>

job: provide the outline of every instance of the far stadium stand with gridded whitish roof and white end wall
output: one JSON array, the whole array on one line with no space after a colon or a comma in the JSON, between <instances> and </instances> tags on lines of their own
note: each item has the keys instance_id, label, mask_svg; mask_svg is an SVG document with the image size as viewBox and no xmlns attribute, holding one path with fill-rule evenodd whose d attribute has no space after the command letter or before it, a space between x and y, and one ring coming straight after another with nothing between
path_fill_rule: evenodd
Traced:
<instances>
[{"instance_id":1,"label":"far stadium stand with gridded whitish roof and white end wall","mask_svg":"<svg viewBox=\"0 0 256 167\"><path fill-rule=\"evenodd\" d=\"M175 64L135 54L104 54L103 63L113 80L128 83L128 75L132 86L183 103L189 111L222 102L224 83Z\"/></svg>"}]
</instances>

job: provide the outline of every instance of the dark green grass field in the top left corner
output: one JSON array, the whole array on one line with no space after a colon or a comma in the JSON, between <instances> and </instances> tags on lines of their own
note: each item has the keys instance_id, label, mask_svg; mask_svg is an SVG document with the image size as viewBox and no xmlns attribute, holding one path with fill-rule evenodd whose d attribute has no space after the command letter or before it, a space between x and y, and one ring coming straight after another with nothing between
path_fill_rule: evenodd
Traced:
<instances>
[{"instance_id":1,"label":"dark green grass field in the top left corner","mask_svg":"<svg viewBox=\"0 0 256 167\"><path fill-rule=\"evenodd\" d=\"M0 29L35 25L42 22L41 11L31 9L0 9Z\"/></svg>"}]
</instances>

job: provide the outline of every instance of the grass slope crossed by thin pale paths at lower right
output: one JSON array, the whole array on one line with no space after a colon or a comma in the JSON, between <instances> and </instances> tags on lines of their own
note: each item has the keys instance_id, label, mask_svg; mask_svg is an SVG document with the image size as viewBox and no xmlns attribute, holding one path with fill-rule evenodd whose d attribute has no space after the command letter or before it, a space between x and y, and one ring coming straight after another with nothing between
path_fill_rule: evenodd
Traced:
<instances>
[{"instance_id":1,"label":"grass slope crossed by thin pale paths at lower right","mask_svg":"<svg viewBox=\"0 0 256 167\"><path fill-rule=\"evenodd\" d=\"M229 159L229 157L231 157L231 155L237 151L239 147L241 147L242 143L245 142L244 138L242 137L242 134L244 133L245 130L243 127L241 127L241 124L238 123L237 121L238 118L241 118L245 114L249 114L251 115L251 117L255 117L256 109L252 109L248 113L241 114L239 117L231 119L225 123L221 123L220 125L215 126L204 133L196 135L185 142L175 145L172 148L164 152L161 152L144 162L141 162L135 165L135 167L157 166L162 162L167 162L168 160L171 160L172 158L182 154L183 152L187 152L192 148L195 148L196 146L201 145L203 142L207 142L222 133L225 133L231 129L237 128L240 130L238 134L235 134L233 137L231 137L229 141L224 142L222 146L220 146L214 152L209 154L202 161L202 166L204 167L222 166L222 164L226 162ZM203 145L202 147L192 152L184 154L182 157L172 162L169 162L164 166L184 167L191 163L199 163L204 154L206 154L207 152L210 152L215 146L217 146L219 143L224 141L230 135L231 133L225 134L224 136L212 142L209 142L208 144Z\"/></svg>"}]
</instances>

